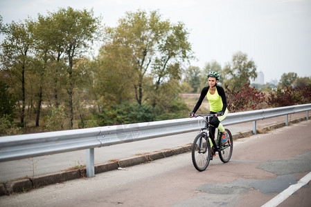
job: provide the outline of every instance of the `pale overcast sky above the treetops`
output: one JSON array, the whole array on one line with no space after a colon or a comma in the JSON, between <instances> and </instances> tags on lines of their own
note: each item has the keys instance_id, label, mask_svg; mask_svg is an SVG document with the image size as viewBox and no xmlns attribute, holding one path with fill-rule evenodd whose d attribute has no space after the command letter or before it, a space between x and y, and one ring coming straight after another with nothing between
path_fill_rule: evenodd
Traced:
<instances>
[{"instance_id":1,"label":"pale overcast sky above the treetops","mask_svg":"<svg viewBox=\"0 0 311 207\"><path fill-rule=\"evenodd\" d=\"M265 82L285 72L311 77L311 0L0 0L0 15L10 23L68 6L93 8L106 26L138 9L182 21L198 59L192 66L215 60L223 67L241 51L265 74Z\"/></svg>"}]
</instances>

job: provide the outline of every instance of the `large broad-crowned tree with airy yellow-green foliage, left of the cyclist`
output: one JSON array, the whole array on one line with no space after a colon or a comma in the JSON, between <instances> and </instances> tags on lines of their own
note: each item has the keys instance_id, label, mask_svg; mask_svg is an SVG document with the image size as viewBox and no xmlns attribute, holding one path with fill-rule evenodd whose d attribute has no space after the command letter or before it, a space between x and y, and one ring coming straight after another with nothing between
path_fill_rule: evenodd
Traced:
<instances>
[{"instance_id":1,"label":"large broad-crowned tree with airy yellow-green foliage, left of the cyclist","mask_svg":"<svg viewBox=\"0 0 311 207\"><path fill-rule=\"evenodd\" d=\"M148 14L138 10L127 12L124 18L119 19L116 28L107 28L105 46L124 52L120 53L120 58L114 59L116 63L125 61L137 103L142 104L149 98L155 106L161 84L168 79L180 79L181 63L192 58L187 39L188 31L183 23L163 21L157 11ZM107 52L105 55L111 57L113 54ZM116 72L118 68L111 67L110 70ZM150 75L154 79L153 91L149 91L149 97L144 97L148 87L144 82Z\"/></svg>"}]
</instances>

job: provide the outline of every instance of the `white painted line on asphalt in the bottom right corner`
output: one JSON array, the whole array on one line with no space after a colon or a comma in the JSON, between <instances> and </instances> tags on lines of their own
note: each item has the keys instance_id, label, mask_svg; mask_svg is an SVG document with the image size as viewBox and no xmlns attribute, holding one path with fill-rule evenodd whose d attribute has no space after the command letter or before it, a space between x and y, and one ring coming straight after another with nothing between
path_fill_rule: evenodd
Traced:
<instances>
[{"instance_id":1,"label":"white painted line on asphalt in the bottom right corner","mask_svg":"<svg viewBox=\"0 0 311 207\"><path fill-rule=\"evenodd\" d=\"M287 199L288 197L290 197L290 195L292 195L297 190L299 190L299 188L301 188L302 186L305 186L306 184L308 184L308 182L310 180L311 180L311 172L309 172L308 175L305 175L305 177L301 178L296 184L294 184L294 185L286 188L285 190L283 190L283 192L278 194L273 199L269 200L262 207L278 206L278 204L281 204L283 201L285 201L285 199Z\"/></svg>"}]
</instances>

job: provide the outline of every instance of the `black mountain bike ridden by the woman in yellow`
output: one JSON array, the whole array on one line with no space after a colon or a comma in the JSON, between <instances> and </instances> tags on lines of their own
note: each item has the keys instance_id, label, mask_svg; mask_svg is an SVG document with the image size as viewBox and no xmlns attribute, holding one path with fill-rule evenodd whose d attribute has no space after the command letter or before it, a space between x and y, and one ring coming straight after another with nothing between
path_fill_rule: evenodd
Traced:
<instances>
[{"instance_id":1,"label":"black mountain bike ridden by the woman in yellow","mask_svg":"<svg viewBox=\"0 0 311 207\"><path fill-rule=\"evenodd\" d=\"M226 143L222 143L222 132L220 130L217 131L217 144L215 143L215 135L210 134L210 126L209 120L211 117L216 117L217 115L195 115L194 117L204 117L206 121L205 127L201 128L199 135L195 137L192 146L192 160L193 166L199 171L204 171L211 159L213 159L213 155L211 155L211 142L213 146L215 146L215 153L218 152L220 160L224 163L228 162L231 158L233 151L233 139L229 129L225 128L228 133L228 141ZM210 142L211 141L211 142Z\"/></svg>"}]
</instances>

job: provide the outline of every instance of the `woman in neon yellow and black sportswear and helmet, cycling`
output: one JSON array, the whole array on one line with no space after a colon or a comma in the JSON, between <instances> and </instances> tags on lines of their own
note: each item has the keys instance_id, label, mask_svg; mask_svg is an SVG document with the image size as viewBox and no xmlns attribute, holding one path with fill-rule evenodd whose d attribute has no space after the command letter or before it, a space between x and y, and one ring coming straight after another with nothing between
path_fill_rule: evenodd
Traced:
<instances>
[{"instance_id":1,"label":"woman in neon yellow and black sportswear and helmet, cycling","mask_svg":"<svg viewBox=\"0 0 311 207\"><path fill-rule=\"evenodd\" d=\"M217 72L209 72L208 75L208 86L202 89L201 95L195 108L193 108L193 112L190 112L190 117L195 115L195 112L201 106L204 97L206 96L208 102L210 104L210 114L217 114L217 117L212 117L209 123L212 125L211 135L215 135L215 127L222 132L222 143L226 143L228 141L228 133L224 130L224 126L220 124L220 121L226 118L228 114L228 109L226 108L226 94L224 92L224 88L221 86L217 86L217 83L220 79L220 75ZM214 127L215 126L215 127ZM209 137L211 137L211 135ZM213 147L214 148L214 147ZM213 154L215 150L212 150Z\"/></svg>"}]
</instances>

